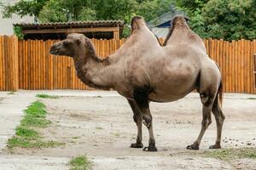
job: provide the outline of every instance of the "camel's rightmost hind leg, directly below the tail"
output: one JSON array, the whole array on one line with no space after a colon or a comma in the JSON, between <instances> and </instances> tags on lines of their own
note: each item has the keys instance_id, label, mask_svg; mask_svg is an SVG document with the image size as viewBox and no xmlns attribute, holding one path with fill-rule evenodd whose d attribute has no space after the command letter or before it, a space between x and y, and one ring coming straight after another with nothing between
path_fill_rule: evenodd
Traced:
<instances>
[{"instance_id":1,"label":"camel's rightmost hind leg, directly below the tail","mask_svg":"<svg viewBox=\"0 0 256 170\"><path fill-rule=\"evenodd\" d=\"M213 106L212 106L212 113L215 116L216 125L217 125L217 139L215 144L210 146L210 149L220 149L220 141L221 141L221 133L222 133L222 127L224 124L225 116L223 112L221 111L221 108L218 103L218 96L214 100Z\"/></svg>"}]
</instances>

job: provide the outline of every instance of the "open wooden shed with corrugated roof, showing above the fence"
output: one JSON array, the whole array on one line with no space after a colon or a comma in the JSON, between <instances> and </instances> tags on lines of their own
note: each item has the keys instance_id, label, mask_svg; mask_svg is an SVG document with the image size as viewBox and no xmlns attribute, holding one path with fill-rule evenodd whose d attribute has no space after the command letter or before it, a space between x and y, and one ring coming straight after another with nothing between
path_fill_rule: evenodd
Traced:
<instances>
[{"instance_id":1,"label":"open wooden shed with corrugated roof, showing above the fence","mask_svg":"<svg viewBox=\"0 0 256 170\"><path fill-rule=\"evenodd\" d=\"M84 20L49 23L17 23L24 39L63 39L68 33L84 33L87 37L117 38L122 33L123 20Z\"/></svg>"}]
</instances>

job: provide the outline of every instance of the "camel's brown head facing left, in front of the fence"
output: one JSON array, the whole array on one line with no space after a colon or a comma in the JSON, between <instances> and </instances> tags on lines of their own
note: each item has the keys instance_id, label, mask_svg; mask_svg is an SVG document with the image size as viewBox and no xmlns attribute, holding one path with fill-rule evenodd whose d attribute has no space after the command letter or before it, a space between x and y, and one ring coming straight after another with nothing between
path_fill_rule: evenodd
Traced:
<instances>
[{"instance_id":1,"label":"camel's brown head facing left, in front of the fence","mask_svg":"<svg viewBox=\"0 0 256 170\"><path fill-rule=\"evenodd\" d=\"M83 34L69 34L67 39L61 42L56 42L49 49L50 54L54 55L67 55L69 57L74 57L78 55L84 48L84 35Z\"/></svg>"}]
</instances>

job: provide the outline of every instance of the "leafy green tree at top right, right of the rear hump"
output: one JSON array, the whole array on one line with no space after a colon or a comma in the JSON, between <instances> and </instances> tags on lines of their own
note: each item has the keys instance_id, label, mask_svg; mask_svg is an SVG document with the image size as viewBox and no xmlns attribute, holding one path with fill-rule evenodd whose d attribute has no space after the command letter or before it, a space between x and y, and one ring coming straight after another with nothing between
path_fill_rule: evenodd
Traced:
<instances>
[{"instance_id":1,"label":"leafy green tree at top right, right of the rear hump","mask_svg":"<svg viewBox=\"0 0 256 170\"><path fill-rule=\"evenodd\" d=\"M256 38L254 0L178 0L189 14L189 24L201 37L225 40Z\"/></svg>"}]
</instances>

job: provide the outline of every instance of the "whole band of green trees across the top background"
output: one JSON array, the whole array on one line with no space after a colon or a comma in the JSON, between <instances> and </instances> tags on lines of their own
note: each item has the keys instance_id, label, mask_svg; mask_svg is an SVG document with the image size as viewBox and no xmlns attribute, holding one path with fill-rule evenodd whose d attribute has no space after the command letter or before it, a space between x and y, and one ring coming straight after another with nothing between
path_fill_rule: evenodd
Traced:
<instances>
[{"instance_id":1,"label":"whole band of green trees across the top background","mask_svg":"<svg viewBox=\"0 0 256 170\"><path fill-rule=\"evenodd\" d=\"M171 6L189 15L190 26L201 37L238 40L256 38L255 0L20 0L3 5L3 17L29 14L41 22L69 20L125 20L123 37L130 34L134 15L153 20L170 12ZM22 38L19 28L15 34Z\"/></svg>"}]
</instances>

